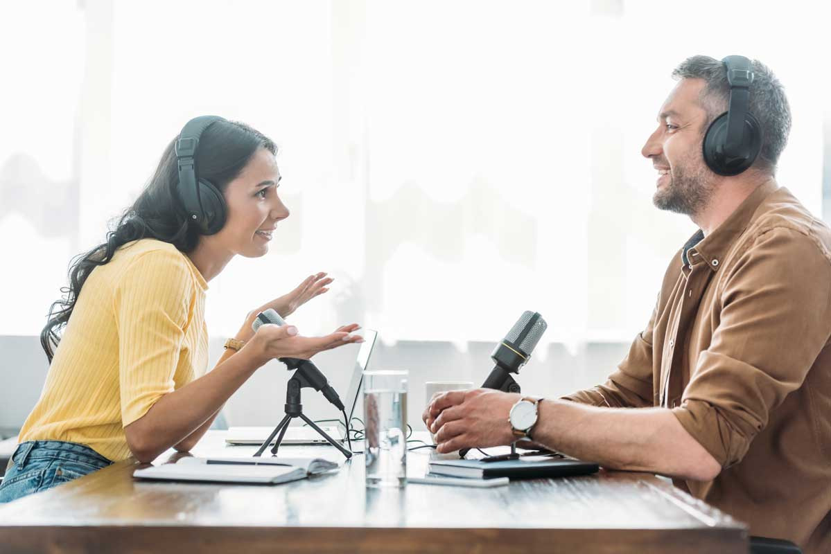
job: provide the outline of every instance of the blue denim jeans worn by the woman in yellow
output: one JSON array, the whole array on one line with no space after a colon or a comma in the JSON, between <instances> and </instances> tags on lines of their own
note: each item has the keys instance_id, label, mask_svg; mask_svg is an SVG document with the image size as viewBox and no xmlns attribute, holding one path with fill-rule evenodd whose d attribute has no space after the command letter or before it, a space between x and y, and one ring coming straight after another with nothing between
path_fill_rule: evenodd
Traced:
<instances>
[{"instance_id":1,"label":"blue denim jeans worn by the woman in yellow","mask_svg":"<svg viewBox=\"0 0 831 554\"><path fill-rule=\"evenodd\" d=\"M30 440L17 445L0 483L0 503L57 487L112 462L83 444Z\"/></svg>"}]
</instances>

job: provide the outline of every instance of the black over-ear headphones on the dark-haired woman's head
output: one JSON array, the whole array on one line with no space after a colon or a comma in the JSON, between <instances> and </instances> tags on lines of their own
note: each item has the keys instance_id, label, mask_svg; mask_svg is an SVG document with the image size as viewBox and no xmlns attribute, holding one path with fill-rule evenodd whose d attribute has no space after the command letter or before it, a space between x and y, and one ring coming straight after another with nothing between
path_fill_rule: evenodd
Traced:
<instances>
[{"instance_id":1,"label":"black over-ear headphones on the dark-haired woman's head","mask_svg":"<svg viewBox=\"0 0 831 554\"><path fill-rule=\"evenodd\" d=\"M217 121L224 121L217 115L200 115L184 124L176 140L176 161L179 164L179 193L188 218L199 226L204 235L217 233L225 224L228 209L222 192L208 179L199 179L196 174L194 156L199 147L199 136Z\"/></svg>"}]
</instances>

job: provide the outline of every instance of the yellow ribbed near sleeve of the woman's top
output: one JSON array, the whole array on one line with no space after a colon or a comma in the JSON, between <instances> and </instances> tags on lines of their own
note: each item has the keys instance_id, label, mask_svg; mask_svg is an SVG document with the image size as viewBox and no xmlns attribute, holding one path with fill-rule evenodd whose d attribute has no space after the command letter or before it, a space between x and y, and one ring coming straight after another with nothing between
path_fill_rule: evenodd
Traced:
<instances>
[{"instance_id":1,"label":"yellow ribbed near sleeve of the woman's top","mask_svg":"<svg viewBox=\"0 0 831 554\"><path fill-rule=\"evenodd\" d=\"M175 390L192 297L189 269L176 252L146 252L125 269L113 297L123 426Z\"/></svg>"}]
</instances>

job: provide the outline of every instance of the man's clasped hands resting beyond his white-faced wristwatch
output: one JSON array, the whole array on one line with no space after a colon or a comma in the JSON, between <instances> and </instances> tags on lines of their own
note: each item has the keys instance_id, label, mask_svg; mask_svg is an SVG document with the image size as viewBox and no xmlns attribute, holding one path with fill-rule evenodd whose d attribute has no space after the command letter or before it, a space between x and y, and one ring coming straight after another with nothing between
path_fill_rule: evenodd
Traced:
<instances>
[{"instance_id":1,"label":"man's clasped hands resting beyond his white-faced wristwatch","mask_svg":"<svg viewBox=\"0 0 831 554\"><path fill-rule=\"evenodd\" d=\"M451 390L433 395L422 418L435 433L436 452L501 446L514 442L508 414L519 399L500 390Z\"/></svg>"}]
</instances>

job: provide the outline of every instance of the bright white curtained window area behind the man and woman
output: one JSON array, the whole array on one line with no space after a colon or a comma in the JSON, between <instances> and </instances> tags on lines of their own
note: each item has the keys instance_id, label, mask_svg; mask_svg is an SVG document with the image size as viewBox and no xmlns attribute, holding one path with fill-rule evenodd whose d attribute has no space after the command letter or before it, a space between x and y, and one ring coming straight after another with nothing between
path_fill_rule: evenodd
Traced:
<instances>
[{"instance_id":1,"label":"bright white curtained window area behind the man and woman","mask_svg":"<svg viewBox=\"0 0 831 554\"><path fill-rule=\"evenodd\" d=\"M630 341L695 231L640 150L694 54L767 63L794 126L779 182L822 210L819 2L294 0L0 4L0 336L37 336L71 257L194 115L278 142L292 217L210 283L208 325L331 272L305 334L494 342L524 310L568 351ZM538 348L544 361L548 350ZM603 368L607 371L611 368Z\"/></svg>"}]
</instances>

